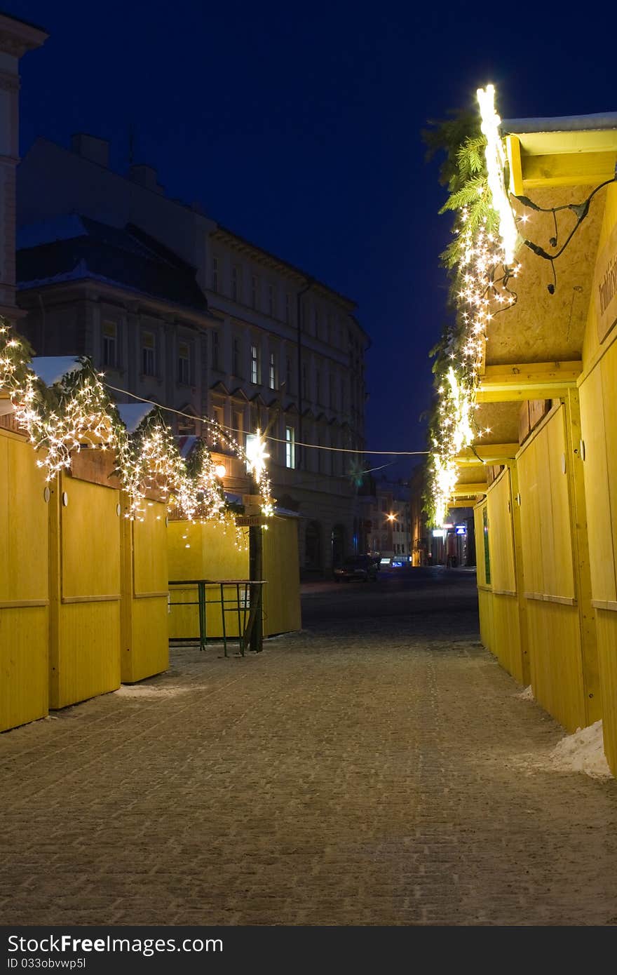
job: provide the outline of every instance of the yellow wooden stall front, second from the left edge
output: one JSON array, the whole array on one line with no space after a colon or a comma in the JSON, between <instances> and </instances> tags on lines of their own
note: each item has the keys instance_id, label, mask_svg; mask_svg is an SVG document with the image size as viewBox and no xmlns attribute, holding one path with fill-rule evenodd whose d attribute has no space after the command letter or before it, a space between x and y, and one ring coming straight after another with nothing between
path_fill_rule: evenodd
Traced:
<instances>
[{"instance_id":1,"label":"yellow wooden stall front, second from the left edge","mask_svg":"<svg viewBox=\"0 0 617 975\"><path fill-rule=\"evenodd\" d=\"M50 502L50 707L120 686L120 491L113 460L84 450Z\"/></svg>"}]
</instances>

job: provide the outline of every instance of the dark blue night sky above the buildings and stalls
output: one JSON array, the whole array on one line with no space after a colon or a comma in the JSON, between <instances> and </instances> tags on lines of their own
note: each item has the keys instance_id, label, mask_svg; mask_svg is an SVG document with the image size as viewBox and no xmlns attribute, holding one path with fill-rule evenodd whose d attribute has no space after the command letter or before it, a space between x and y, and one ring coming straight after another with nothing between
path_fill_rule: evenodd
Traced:
<instances>
[{"instance_id":1,"label":"dark blue night sky above the buildings and stalls","mask_svg":"<svg viewBox=\"0 0 617 975\"><path fill-rule=\"evenodd\" d=\"M617 111L608 3L587 21L557 4L3 9L50 34L21 61L22 154L36 136L68 145L84 131L109 138L124 171L133 124L135 162L155 166L169 196L358 301L372 449L425 447L449 233L427 119L471 106L489 81L502 118Z\"/></svg>"}]
</instances>

